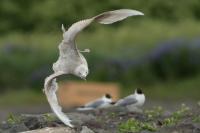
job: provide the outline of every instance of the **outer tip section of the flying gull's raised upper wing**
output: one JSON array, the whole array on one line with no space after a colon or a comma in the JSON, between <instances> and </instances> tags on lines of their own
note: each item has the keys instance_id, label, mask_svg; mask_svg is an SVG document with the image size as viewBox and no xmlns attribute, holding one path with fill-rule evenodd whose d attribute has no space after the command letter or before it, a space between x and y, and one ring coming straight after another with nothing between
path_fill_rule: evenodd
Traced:
<instances>
[{"instance_id":1,"label":"outer tip section of the flying gull's raised upper wing","mask_svg":"<svg viewBox=\"0 0 200 133\"><path fill-rule=\"evenodd\" d=\"M94 19L101 24L112 24L114 22L126 19L127 17L138 16L138 15L144 15L144 14L140 11L132 9L119 9L119 10L104 12L100 15L95 16Z\"/></svg>"}]
</instances>

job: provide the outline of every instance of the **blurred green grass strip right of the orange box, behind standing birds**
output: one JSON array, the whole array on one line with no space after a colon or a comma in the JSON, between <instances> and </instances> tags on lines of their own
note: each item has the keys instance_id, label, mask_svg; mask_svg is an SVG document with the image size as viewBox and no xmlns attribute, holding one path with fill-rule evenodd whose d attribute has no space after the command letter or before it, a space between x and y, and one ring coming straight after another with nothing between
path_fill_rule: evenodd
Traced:
<instances>
[{"instance_id":1,"label":"blurred green grass strip right of the orange box, behind standing birds","mask_svg":"<svg viewBox=\"0 0 200 133\"><path fill-rule=\"evenodd\" d=\"M200 99L200 76L179 81L162 82L151 86L133 85L121 90L122 96L131 94L135 88L141 87L147 99L172 101L172 100L196 100Z\"/></svg>"}]
</instances>

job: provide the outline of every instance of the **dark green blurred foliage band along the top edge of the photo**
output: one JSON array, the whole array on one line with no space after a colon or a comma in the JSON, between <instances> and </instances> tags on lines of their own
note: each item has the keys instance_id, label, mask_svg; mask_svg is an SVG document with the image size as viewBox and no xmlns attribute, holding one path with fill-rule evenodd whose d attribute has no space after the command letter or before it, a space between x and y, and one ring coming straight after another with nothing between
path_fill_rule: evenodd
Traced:
<instances>
[{"instance_id":1,"label":"dark green blurred foliage band along the top edge of the photo","mask_svg":"<svg viewBox=\"0 0 200 133\"><path fill-rule=\"evenodd\" d=\"M88 8L88 5L89 8ZM62 23L70 25L80 18L86 18L103 11L119 8L131 8L144 12L146 18L169 23L200 19L198 0L2 0L0 5L0 32L10 31L59 31ZM131 22L131 21L130 21Z\"/></svg>"}]
</instances>

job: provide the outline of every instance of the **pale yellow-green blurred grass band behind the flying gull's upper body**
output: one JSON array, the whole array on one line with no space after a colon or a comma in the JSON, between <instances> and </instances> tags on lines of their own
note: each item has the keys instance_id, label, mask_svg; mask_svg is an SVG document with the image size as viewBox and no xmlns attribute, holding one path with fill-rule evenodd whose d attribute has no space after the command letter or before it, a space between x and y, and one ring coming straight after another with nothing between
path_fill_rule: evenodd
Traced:
<instances>
[{"instance_id":1,"label":"pale yellow-green blurred grass band behind the flying gull's upper body","mask_svg":"<svg viewBox=\"0 0 200 133\"><path fill-rule=\"evenodd\" d=\"M174 38L191 39L199 37L200 22L184 20L169 23L143 19L137 22L127 20L122 25L93 24L95 30L87 28L77 38L80 49L90 48L94 53L105 56L138 56L154 48L158 42ZM69 27L69 26L66 26ZM58 29L61 27L57 27ZM41 49L43 56L58 53L57 46L62 40L62 32L13 32L2 36L0 44L14 43ZM2 46L2 45L1 45ZM1 47L0 46L0 47ZM123 48L131 52L123 52ZM112 52L110 51L112 49ZM121 52L121 53L120 53ZM120 54L119 54L120 53Z\"/></svg>"}]
</instances>

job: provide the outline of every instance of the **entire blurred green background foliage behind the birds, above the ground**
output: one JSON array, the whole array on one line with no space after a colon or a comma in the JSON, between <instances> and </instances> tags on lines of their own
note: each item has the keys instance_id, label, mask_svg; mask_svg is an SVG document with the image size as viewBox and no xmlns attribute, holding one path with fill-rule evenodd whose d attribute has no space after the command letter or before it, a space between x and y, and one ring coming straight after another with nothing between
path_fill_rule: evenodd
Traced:
<instances>
[{"instance_id":1,"label":"entire blurred green background foliage behind the birds, above the ground","mask_svg":"<svg viewBox=\"0 0 200 133\"><path fill-rule=\"evenodd\" d=\"M199 0L1 0L1 92L41 93L61 24L120 8L145 16L93 24L77 38L80 49L91 49L88 81L118 82L123 95L143 87L152 98L200 98Z\"/></svg>"}]
</instances>

